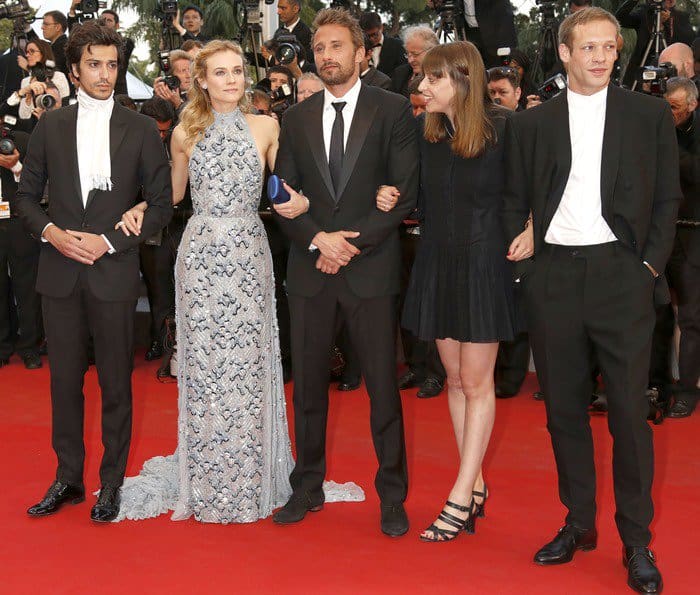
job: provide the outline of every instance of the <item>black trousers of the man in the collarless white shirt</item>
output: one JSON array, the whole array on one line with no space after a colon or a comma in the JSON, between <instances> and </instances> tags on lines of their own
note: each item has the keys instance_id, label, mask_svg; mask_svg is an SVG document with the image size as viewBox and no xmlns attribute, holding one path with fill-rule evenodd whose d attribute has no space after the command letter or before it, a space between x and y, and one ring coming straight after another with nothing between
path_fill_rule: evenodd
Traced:
<instances>
[{"instance_id":1,"label":"black trousers of the man in the collarless white shirt","mask_svg":"<svg viewBox=\"0 0 700 595\"><path fill-rule=\"evenodd\" d=\"M546 246L526 279L530 339L538 353L547 428L567 523L595 525L596 482L588 416L597 362L613 437L615 520L626 546L646 546L654 458L645 398L654 329L654 278L619 242Z\"/></svg>"}]
</instances>

